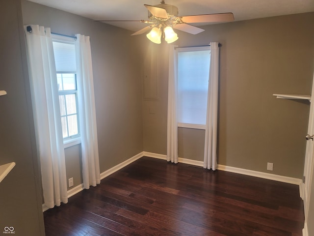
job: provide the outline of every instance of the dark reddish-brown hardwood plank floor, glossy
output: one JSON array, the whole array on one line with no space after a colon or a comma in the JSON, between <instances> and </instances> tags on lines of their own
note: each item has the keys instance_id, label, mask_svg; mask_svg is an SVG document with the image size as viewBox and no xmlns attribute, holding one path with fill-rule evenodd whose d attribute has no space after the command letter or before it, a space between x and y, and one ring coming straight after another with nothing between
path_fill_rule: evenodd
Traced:
<instances>
[{"instance_id":1,"label":"dark reddish-brown hardwood plank floor, glossy","mask_svg":"<svg viewBox=\"0 0 314 236\"><path fill-rule=\"evenodd\" d=\"M302 236L299 186L143 157L44 212L46 236Z\"/></svg>"}]
</instances>

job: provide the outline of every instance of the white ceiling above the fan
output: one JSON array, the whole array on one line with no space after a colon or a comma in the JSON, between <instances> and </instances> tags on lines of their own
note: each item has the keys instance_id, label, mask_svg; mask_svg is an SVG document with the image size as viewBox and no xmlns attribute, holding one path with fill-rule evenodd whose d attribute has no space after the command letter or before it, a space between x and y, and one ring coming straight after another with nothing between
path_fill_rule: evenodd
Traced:
<instances>
[{"instance_id":1,"label":"white ceiling above the fan","mask_svg":"<svg viewBox=\"0 0 314 236\"><path fill-rule=\"evenodd\" d=\"M92 20L147 20L144 4L160 0L30 0ZM314 0L165 0L179 8L179 16L232 12L235 21L314 11ZM137 31L146 27L138 22L106 22ZM200 26L200 24L192 24ZM204 24L203 24L204 25Z\"/></svg>"}]
</instances>

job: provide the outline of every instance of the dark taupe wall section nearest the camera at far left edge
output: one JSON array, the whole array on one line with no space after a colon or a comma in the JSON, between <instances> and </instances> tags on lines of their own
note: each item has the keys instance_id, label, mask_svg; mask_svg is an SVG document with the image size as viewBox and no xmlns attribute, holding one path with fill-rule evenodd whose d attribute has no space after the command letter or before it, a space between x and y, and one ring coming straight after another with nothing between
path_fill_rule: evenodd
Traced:
<instances>
[{"instance_id":1,"label":"dark taupe wall section nearest the camera at far left edge","mask_svg":"<svg viewBox=\"0 0 314 236\"><path fill-rule=\"evenodd\" d=\"M44 236L20 0L0 1L0 165L16 166L0 183L0 234Z\"/></svg>"}]
</instances>

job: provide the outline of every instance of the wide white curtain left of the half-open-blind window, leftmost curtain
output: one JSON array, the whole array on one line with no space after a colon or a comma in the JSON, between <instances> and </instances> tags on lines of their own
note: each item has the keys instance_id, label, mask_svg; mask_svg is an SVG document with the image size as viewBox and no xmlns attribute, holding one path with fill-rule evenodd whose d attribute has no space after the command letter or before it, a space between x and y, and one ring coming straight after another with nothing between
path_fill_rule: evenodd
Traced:
<instances>
[{"instance_id":1,"label":"wide white curtain left of the half-open-blind window, leftmost curtain","mask_svg":"<svg viewBox=\"0 0 314 236\"><path fill-rule=\"evenodd\" d=\"M59 97L50 28L25 26L28 71L40 158L44 204L67 203L67 181Z\"/></svg>"}]
</instances>

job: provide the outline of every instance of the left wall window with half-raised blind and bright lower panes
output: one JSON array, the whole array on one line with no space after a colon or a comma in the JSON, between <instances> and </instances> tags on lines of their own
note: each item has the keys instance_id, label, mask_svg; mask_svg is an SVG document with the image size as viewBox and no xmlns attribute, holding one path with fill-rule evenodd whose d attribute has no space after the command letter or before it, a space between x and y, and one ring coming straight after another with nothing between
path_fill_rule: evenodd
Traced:
<instances>
[{"instance_id":1,"label":"left wall window with half-raised blind and bright lower panes","mask_svg":"<svg viewBox=\"0 0 314 236\"><path fill-rule=\"evenodd\" d=\"M78 88L74 38L53 35L63 142L79 138Z\"/></svg>"}]
</instances>

